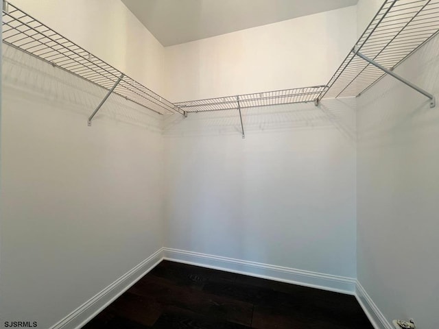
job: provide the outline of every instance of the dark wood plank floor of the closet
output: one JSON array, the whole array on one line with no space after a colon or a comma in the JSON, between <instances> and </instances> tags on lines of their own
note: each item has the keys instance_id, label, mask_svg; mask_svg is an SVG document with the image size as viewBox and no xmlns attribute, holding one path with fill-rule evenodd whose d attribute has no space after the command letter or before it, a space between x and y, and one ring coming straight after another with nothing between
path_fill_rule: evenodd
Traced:
<instances>
[{"instance_id":1,"label":"dark wood plank floor of the closet","mask_svg":"<svg viewBox=\"0 0 439 329\"><path fill-rule=\"evenodd\" d=\"M84 329L373 329L355 297L164 260Z\"/></svg>"}]
</instances>

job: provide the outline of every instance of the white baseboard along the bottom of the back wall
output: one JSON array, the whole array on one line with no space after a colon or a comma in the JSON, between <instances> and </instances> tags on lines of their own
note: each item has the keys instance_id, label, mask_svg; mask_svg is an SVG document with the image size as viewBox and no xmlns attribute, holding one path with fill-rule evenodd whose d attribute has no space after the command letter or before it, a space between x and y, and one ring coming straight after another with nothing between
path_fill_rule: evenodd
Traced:
<instances>
[{"instance_id":1,"label":"white baseboard along the bottom of the back wall","mask_svg":"<svg viewBox=\"0 0 439 329\"><path fill-rule=\"evenodd\" d=\"M255 276L268 280L299 284L301 286L335 291L337 293L355 294L355 279L331 274L292 269L277 265L250 262L235 258L200 254L185 250L163 248L164 259L178 263L220 269L233 273Z\"/></svg>"}]
</instances>

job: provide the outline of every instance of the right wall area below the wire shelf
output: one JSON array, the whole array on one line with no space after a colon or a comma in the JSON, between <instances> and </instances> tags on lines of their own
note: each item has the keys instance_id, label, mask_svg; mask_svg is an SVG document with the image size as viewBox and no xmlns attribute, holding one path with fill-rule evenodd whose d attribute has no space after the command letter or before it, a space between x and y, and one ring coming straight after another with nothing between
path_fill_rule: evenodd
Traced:
<instances>
[{"instance_id":1,"label":"right wall area below the wire shelf","mask_svg":"<svg viewBox=\"0 0 439 329\"><path fill-rule=\"evenodd\" d=\"M438 97L438 51L436 37L395 72ZM388 76L357 111L358 280L388 321L439 328L438 106Z\"/></svg>"}]
</instances>

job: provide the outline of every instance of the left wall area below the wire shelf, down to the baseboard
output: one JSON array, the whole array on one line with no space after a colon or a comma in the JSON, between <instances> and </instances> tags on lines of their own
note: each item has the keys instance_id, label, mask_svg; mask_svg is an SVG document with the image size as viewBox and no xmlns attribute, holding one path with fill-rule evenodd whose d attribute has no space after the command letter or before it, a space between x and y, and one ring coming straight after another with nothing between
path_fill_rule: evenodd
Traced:
<instances>
[{"instance_id":1,"label":"left wall area below the wire shelf, down to the baseboard","mask_svg":"<svg viewBox=\"0 0 439 329\"><path fill-rule=\"evenodd\" d=\"M112 96L88 127L106 90L9 47L2 77L1 326L49 328L163 247L161 120Z\"/></svg>"}]
</instances>

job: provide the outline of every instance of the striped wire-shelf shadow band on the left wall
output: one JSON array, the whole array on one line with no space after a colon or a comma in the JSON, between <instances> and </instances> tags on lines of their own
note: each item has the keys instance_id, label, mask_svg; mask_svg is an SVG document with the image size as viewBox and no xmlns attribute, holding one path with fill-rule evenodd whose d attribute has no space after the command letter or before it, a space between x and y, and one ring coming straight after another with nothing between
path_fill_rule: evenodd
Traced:
<instances>
[{"instance_id":1,"label":"striped wire-shelf shadow band on the left wall","mask_svg":"<svg viewBox=\"0 0 439 329\"><path fill-rule=\"evenodd\" d=\"M2 83L18 90L20 97L32 95L47 103L58 103L60 110L77 112L87 118L105 97L107 90L80 77L63 71L29 54L3 45ZM153 132L161 132L162 116L112 94L93 120L112 119L137 125Z\"/></svg>"}]
</instances>

